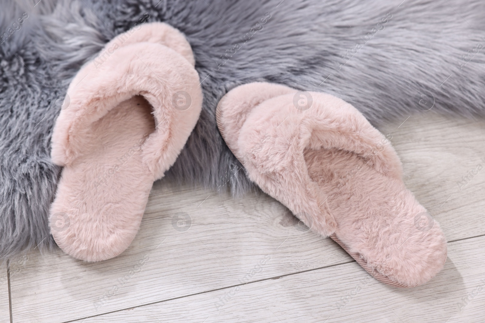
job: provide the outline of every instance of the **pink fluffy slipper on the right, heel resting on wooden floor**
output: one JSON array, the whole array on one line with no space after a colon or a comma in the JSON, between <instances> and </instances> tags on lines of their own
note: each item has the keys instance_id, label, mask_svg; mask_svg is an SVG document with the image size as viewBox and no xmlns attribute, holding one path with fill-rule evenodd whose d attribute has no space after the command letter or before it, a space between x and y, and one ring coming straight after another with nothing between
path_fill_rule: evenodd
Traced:
<instances>
[{"instance_id":1,"label":"pink fluffy slipper on the right, heel resting on wooden floor","mask_svg":"<svg viewBox=\"0 0 485 323\"><path fill-rule=\"evenodd\" d=\"M329 94L250 83L229 91L216 115L249 178L373 277L413 287L441 270L438 223L405 188L387 138L356 108Z\"/></svg>"}]
</instances>

